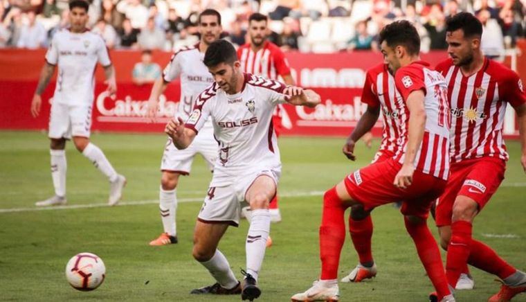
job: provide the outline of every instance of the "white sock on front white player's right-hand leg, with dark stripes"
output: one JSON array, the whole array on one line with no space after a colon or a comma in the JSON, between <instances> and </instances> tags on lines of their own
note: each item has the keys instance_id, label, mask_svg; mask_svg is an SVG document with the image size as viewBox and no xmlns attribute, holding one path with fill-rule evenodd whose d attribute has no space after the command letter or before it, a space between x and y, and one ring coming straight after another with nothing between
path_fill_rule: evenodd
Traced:
<instances>
[{"instance_id":1,"label":"white sock on front white player's right-hand leg, with dark stripes","mask_svg":"<svg viewBox=\"0 0 526 302\"><path fill-rule=\"evenodd\" d=\"M246 235L246 272L257 281L266 250L266 239L271 230L271 214L268 209L253 210L251 226Z\"/></svg>"}]
</instances>

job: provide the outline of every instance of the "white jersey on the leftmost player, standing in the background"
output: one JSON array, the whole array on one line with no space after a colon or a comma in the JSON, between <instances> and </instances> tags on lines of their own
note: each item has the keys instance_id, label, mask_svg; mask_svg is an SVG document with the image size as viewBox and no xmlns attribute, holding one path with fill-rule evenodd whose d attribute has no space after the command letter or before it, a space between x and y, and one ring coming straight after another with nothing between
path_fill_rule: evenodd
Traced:
<instances>
[{"instance_id":1,"label":"white jersey on the leftmost player, standing in the background","mask_svg":"<svg viewBox=\"0 0 526 302\"><path fill-rule=\"evenodd\" d=\"M46 62L58 65L53 102L65 105L91 105L97 62L102 66L111 65L100 35L89 30L71 33L69 29L62 29L53 36Z\"/></svg>"}]
</instances>

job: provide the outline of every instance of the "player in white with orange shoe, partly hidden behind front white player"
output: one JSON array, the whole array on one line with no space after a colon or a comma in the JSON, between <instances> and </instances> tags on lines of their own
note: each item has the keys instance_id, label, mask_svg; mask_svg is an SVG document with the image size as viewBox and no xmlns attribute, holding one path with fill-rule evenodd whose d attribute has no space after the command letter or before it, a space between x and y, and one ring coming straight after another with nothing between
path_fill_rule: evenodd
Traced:
<instances>
[{"instance_id":1,"label":"player in white with orange shoe, partly hidden behind front white player","mask_svg":"<svg viewBox=\"0 0 526 302\"><path fill-rule=\"evenodd\" d=\"M172 80L181 78L181 98L176 116L186 120L192 112L195 99L201 91L214 82L208 72L203 58L210 43L219 39L222 32L221 15L217 10L203 10L199 15L199 33L201 40L197 45L181 48L172 55L172 60L163 72L163 77L156 80L148 102L148 116L155 118L158 113L158 98ZM159 190L159 210L164 232L149 242L149 245L170 245L177 243L176 235L176 186L180 175L189 175L192 161L200 153L213 169L217 158L217 141L210 120L206 122L193 143L185 150L177 150L168 139L161 161L161 188Z\"/></svg>"}]
</instances>

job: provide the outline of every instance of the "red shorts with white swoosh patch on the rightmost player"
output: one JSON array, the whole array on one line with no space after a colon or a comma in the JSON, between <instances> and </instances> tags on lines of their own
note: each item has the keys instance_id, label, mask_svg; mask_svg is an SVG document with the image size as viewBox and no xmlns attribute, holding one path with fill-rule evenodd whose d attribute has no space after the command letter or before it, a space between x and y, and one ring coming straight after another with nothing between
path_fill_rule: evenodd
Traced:
<instances>
[{"instance_id":1,"label":"red shorts with white swoosh patch on the rightmost player","mask_svg":"<svg viewBox=\"0 0 526 302\"><path fill-rule=\"evenodd\" d=\"M437 199L435 209L437 227L451 225L453 204L457 195L475 200L479 211L482 210L500 186L505 170L506 162L495 157L452 163L446 190Z\"/></svg>"}]
</instances>

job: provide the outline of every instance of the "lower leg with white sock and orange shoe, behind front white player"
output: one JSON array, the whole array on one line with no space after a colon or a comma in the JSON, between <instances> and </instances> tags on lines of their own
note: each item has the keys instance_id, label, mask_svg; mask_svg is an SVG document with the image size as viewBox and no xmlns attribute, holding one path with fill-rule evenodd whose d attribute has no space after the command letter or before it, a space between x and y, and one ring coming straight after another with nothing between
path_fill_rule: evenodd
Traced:
<instances>
[{"instance_id":1,"label":"lower leg with white sock and orange shoe, behind front white player","mask_svg":"<svg viewBox=\"0 0 526 302\"><path fill-rule=\"evenodd\" d=\"M163 170L161 174L161 187L159 188L159 211L163 222L163 233L158 238L149 242L149 245L170 245L177 243L176 187L179 183L180 172Z\"/></svg>"}]
</instances>

